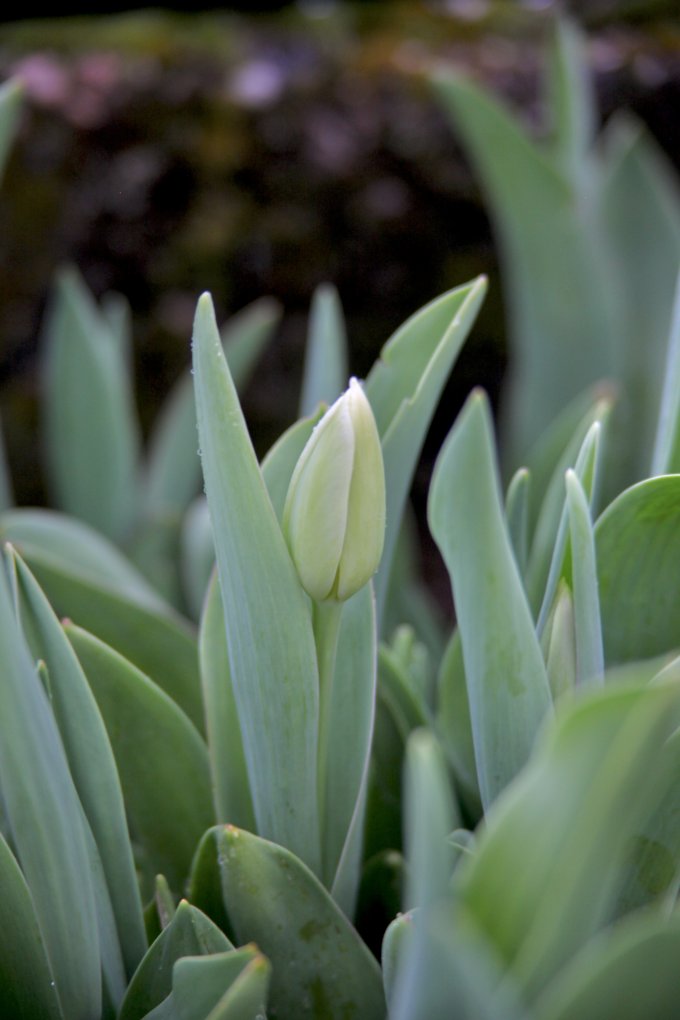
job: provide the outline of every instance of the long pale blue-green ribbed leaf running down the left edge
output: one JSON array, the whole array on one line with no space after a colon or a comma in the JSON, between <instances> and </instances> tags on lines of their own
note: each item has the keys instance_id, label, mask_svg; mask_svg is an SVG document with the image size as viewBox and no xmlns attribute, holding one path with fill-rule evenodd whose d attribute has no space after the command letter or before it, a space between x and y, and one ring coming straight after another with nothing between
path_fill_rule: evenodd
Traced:
<instances>
[{"instance_id":1,"label":"long pale blue-green ribbed leaf running down the left edge","mask_svg":"<svg viewBox=\"0 0 680 1020\"><path fill-rule=\"evenodd\" d=\"M57 725L0 571L0 789L21 871L68 1020L101 1009L99 937L88 843Z\"/></svg>"}]
</instances>

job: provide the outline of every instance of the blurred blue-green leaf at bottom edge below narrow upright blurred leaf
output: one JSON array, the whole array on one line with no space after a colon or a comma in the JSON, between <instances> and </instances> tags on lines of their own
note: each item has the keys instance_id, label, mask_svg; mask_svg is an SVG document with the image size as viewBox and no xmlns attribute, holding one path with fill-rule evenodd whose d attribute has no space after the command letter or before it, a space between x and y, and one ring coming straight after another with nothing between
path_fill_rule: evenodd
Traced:
<instances>
[{"instance_id":1,"label":"blurred blue-green leaf at bottom edge below narrow upright blurred leaf","mask_svg":"<svg viewBox=\"0 0 680 1020\"><path fill-rule=\"evenodd\" d=\"M390 1020L528 1020L492 946L460 906L416 911L412 927L401 933Z\"/></svg>"}]
</instances>

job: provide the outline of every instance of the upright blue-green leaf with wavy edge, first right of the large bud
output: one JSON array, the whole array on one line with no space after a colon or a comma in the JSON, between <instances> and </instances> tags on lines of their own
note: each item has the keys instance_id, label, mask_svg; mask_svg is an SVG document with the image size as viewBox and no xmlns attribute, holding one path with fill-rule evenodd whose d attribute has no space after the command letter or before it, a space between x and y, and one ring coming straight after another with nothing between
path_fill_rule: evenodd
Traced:
<instances>
[{"instance_id":1,"label":"upright blue-green leaf with wavy edge, first right of the large bud","mask_svg":"<svg viewBox=\"0 0 680 1020\"><path fill-rule=\"evenodd\" d=\"M551 694L506 530L481 393L468 399L437 458L428 518L452 579L486 808L529 757Z\"/></svg>"}]
</instances>

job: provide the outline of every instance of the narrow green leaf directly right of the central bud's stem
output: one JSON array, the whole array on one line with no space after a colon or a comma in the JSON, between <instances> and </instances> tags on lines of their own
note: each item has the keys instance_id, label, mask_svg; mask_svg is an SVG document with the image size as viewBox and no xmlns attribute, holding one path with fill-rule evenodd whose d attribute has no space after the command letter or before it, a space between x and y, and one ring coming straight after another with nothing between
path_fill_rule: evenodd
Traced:
<instances>
[{"instance_id":1,"label":"narrow green leaf directly right of the central bud's stem","mask_svg":"<svg viewBox=\"0 0 680 1020\"><path fill-rule=\"evenodd\" d=\"M322 874L335 902L354 914L375 715L375 601L364 585L343 606L329 704Z\"/></svg>"}]
</instances>

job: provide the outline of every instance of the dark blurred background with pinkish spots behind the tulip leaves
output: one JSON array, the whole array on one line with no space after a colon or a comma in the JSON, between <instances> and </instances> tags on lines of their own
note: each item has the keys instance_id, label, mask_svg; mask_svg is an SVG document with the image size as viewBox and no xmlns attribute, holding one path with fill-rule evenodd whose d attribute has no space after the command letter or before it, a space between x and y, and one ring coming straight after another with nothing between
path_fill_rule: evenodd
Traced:
<instances>
[{"instance_id":1,"label":"dark blurred background with pinkish spots behind the tulip leaves","mask_svg":"<svg viewBox=\"0 0 680 1020\"><path fill-rule=\"evenodd\" d=\"M261 454L296 416L319 283L339 291L361 376L408 315L488 273L489 298L416 479L421 514L470 388L498 398L507 353L492 238L427 73L443 61L473 74L534 131L550 130L537 95L556 5L248 6L280 9L0 24L0 79L18 74L27 93L0 191L0 410L20 503L45 499L38 348L64 262L97 296L115 290L130 302L146 427L188 364L203 290L221 320L262 295L279 299L281 328L245 397ZM676 6L600 0L570 10L588 18L601 119L631 108L680 169Z\"/></svg>"}]
</instances>

